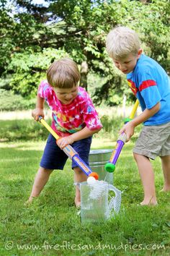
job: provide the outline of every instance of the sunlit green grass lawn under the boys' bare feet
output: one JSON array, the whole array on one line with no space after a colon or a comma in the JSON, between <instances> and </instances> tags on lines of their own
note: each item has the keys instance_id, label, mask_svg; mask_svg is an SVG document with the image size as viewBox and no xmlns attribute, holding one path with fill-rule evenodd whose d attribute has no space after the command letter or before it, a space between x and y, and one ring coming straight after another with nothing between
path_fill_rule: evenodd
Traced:
<instances>
[{"instance_id":1,"label":"sunlit green grass lawn under the boys' bare feet","mask_svg":"<svg viewBox=\"0 0 170 256\"><path fill-rule=\"evenodd\" d=\"M122 193L120 213L106 223L81 225L75 208L73 171L68 161L54 171L32 205L30 195L45 142L0 143L0 255L169 255L169 194L163 186L161 162L153 162L158 205L141 207L143 189L133 142L122 150L114 185ZM92 148L114 148L95 138Z\"/></svg>"}]
</instances>

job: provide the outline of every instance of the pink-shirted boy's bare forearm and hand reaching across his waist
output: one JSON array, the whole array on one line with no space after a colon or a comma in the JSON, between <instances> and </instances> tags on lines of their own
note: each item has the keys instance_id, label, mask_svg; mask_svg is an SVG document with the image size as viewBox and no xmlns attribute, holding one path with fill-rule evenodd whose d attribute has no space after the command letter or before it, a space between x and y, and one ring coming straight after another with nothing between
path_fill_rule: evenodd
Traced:
<instances>
[{"instance_id":1,"label":"pink-shirted boy's bare forearm and hand reaching across his waist","mask_svg":"<svg viewBox=\"0 0 170 256\"><path fill-rule=\"evenodd\" d=\"M84 129L81 129L81 131L79 131L79 132L73 133L73 135L70 135L68 137L62 137L61 139L59 139L57 142L58 147L63 149L68 144L72 144L75 141L83 140L87 137L94 135L94 133L99 132L100 129L102 129L102 127L99 129L95 129L95 130L90 130L89 128L84 127Z\"/></svg>"}]
</instances>

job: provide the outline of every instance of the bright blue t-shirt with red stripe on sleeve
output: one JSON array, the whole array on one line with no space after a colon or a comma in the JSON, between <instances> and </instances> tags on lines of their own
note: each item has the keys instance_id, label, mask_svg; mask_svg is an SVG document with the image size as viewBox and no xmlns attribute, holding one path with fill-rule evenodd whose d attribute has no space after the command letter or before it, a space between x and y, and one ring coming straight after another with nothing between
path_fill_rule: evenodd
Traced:
<instances>
[{"instance_id":1,"label":"bright blue t-shirt with red stripe on sleeve","mask_svg":"<svg viewBox=\"0 0 170 256\"><path fill-rule=\"evenodd\" d=\"M128 84L138 98L142 111L161 103L160 110L144 125L166 124L170 121L170 80L165 70L153 59L142 54L133 72L127 74Z\"/></svg>"}]
</instances>

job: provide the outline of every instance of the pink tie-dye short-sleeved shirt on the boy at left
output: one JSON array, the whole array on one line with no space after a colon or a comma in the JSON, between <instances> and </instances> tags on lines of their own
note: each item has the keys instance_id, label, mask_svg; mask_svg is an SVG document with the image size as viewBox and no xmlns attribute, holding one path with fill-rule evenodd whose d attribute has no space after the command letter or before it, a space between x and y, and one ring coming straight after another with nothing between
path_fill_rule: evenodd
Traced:
<instances>
[{"instance_id":1,"label":"pink tie-dye short-sleeved shirt on the boy at left","mask_svg":"<svg viewBox=\"0 0 170 256\"><path fill-rule=\"evenodd\" d=\"M78 95L70 104L62 104L47 80L40 83L38 96L44 98L50 107L53 117L51 127L60 137L79 132L84 127L90 130L102 127L94 105L84 88L79 87Z\"/></svg>"}]
</instances>

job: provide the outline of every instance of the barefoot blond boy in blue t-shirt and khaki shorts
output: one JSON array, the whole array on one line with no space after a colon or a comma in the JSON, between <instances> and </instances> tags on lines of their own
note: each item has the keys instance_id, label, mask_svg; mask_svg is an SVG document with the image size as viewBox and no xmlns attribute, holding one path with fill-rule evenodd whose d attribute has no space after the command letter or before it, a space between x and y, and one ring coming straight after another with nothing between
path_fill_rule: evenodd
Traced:
<instances>
[{"instance_id":1,"label":"barefoot blond boy in blue t-shirt and khaki shorts","mask_svg":"<svg viewBox=\"0 0 170 256\"><path fill-rule=\"evenodd\" d=\"M164 172L162 191L170 191L170 82L158 62L143 54L138 34L128 27L115 27L107 35L107 53L115 67L126 74L131 90L143 113L125 124L127 141L134 129L143 123L133 155L143 184L141 205L156 205L156 189L151 159L160 156Z\"/></svg>"}]
</instances>

